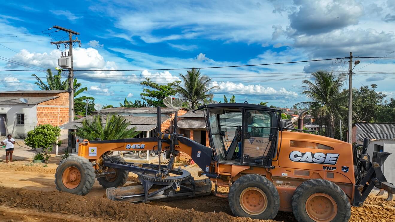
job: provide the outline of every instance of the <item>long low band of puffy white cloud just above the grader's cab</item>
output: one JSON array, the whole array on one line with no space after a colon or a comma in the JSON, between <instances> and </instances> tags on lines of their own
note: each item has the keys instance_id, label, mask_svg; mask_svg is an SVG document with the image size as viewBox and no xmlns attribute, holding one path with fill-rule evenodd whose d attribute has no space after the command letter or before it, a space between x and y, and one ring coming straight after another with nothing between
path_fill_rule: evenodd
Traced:
<instances>
[{"instance_id":1,"label":"long low band of puffy white cloud just above the grader's cab","mask_svg":"<svg viewBox=\"0 0 395 222\"><path fill-rule=\"evenodd\" d=\"M297 93L293 91L287 91L285 88L280 88L280 90L275 90L272 87L264 87L260 84L242 84L233 82L213 82L213 86L219 86L220 90L215 91L216 94L233 94L233 95L250 95L257 97L270 98L272 96L279 96L280 98L294 98L297 97ZM268 97L270 96L270 97Z\"/></svg>"}]
</instances>

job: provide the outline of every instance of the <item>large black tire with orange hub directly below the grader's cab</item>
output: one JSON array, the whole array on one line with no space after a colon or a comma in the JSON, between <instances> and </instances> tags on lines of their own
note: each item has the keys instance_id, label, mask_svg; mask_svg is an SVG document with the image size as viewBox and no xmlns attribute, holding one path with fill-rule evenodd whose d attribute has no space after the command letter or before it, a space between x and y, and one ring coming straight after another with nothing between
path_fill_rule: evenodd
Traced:
<instances>
[{"instance_id":1,"label":"large black tire with orange hub directly below the grader's cab","mask_svg":"<svg viewBox=\"0 0 395 222\"><path fill-rule=\"evenodd\" d=\"M280 207L276 187L266 177L247 174L229 189L229 207L233 215L253 219L273 219Z\"/></svg>"}]
</instances>

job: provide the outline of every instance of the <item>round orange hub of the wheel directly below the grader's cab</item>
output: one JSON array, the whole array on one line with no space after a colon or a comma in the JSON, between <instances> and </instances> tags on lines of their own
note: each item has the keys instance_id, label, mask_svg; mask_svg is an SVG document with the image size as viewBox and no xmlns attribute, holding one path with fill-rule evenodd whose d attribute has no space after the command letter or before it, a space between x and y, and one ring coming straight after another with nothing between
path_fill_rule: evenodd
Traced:
<instances>
[{"instance_id":1,"label":"round orange hub of the wheel directly below the grader's cab","mask_svg":"<svg viewBox=\"0 0 395 222\"><path fill-rule=\"evenodd\" d=\"M267 208L267 196L257 187L248 187L240 194L241 208L250 215L259 215Z\"/></svg>"}]
</instances>

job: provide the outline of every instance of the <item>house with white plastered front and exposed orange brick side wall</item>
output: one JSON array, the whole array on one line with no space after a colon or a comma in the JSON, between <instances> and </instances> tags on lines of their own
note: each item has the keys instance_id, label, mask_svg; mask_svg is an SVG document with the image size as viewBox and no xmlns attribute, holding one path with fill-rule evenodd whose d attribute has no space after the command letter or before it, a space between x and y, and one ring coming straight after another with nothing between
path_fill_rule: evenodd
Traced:
<instances>
[{"instance_id":1,"label":"house with white plastered front and exposed orange brick side wall","mask_svg":"<svg viewBox=\"0 0 395 222\"><path fill-rule=\"evenodd\" d=\"M68 123L69 93L66 90L0 92L0 134L25 138L41 124L60 126ZM61 132L60 140L68 132Z\"/></svg>"}]
</instances>

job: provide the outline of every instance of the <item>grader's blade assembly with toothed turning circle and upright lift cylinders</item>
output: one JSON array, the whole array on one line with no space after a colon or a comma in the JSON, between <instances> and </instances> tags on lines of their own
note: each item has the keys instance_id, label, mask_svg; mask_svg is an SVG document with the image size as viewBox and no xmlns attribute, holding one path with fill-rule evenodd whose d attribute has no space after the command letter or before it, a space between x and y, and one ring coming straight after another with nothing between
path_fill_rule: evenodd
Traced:
<instances>
[{"instance_id":1,"label":"grader's blade assembly with toothed turning circle and upright lift cylinders","mask_svg":"<svg viewBox=\"0 0 395 222\"><path fill-rule=\"evenodd\" d=\"M143 202L167 198L186 198L203 196L211 193L209 179L194 180L191 174L181 168L174 169L174 159L179 151L174 148L178 144L177 111L175 112L173 133L164 134L160 126L160 107L158 107L157 140L158 164L141 164L128 162L105 161L104 166L119 168L138 175L141 184L120 188L107 188L107 198L117 201ZM161 164L162 142L169 144L170 159L167 165ZM111 160L111 159L109 159Z\"/></svg>"}]
</instances>

